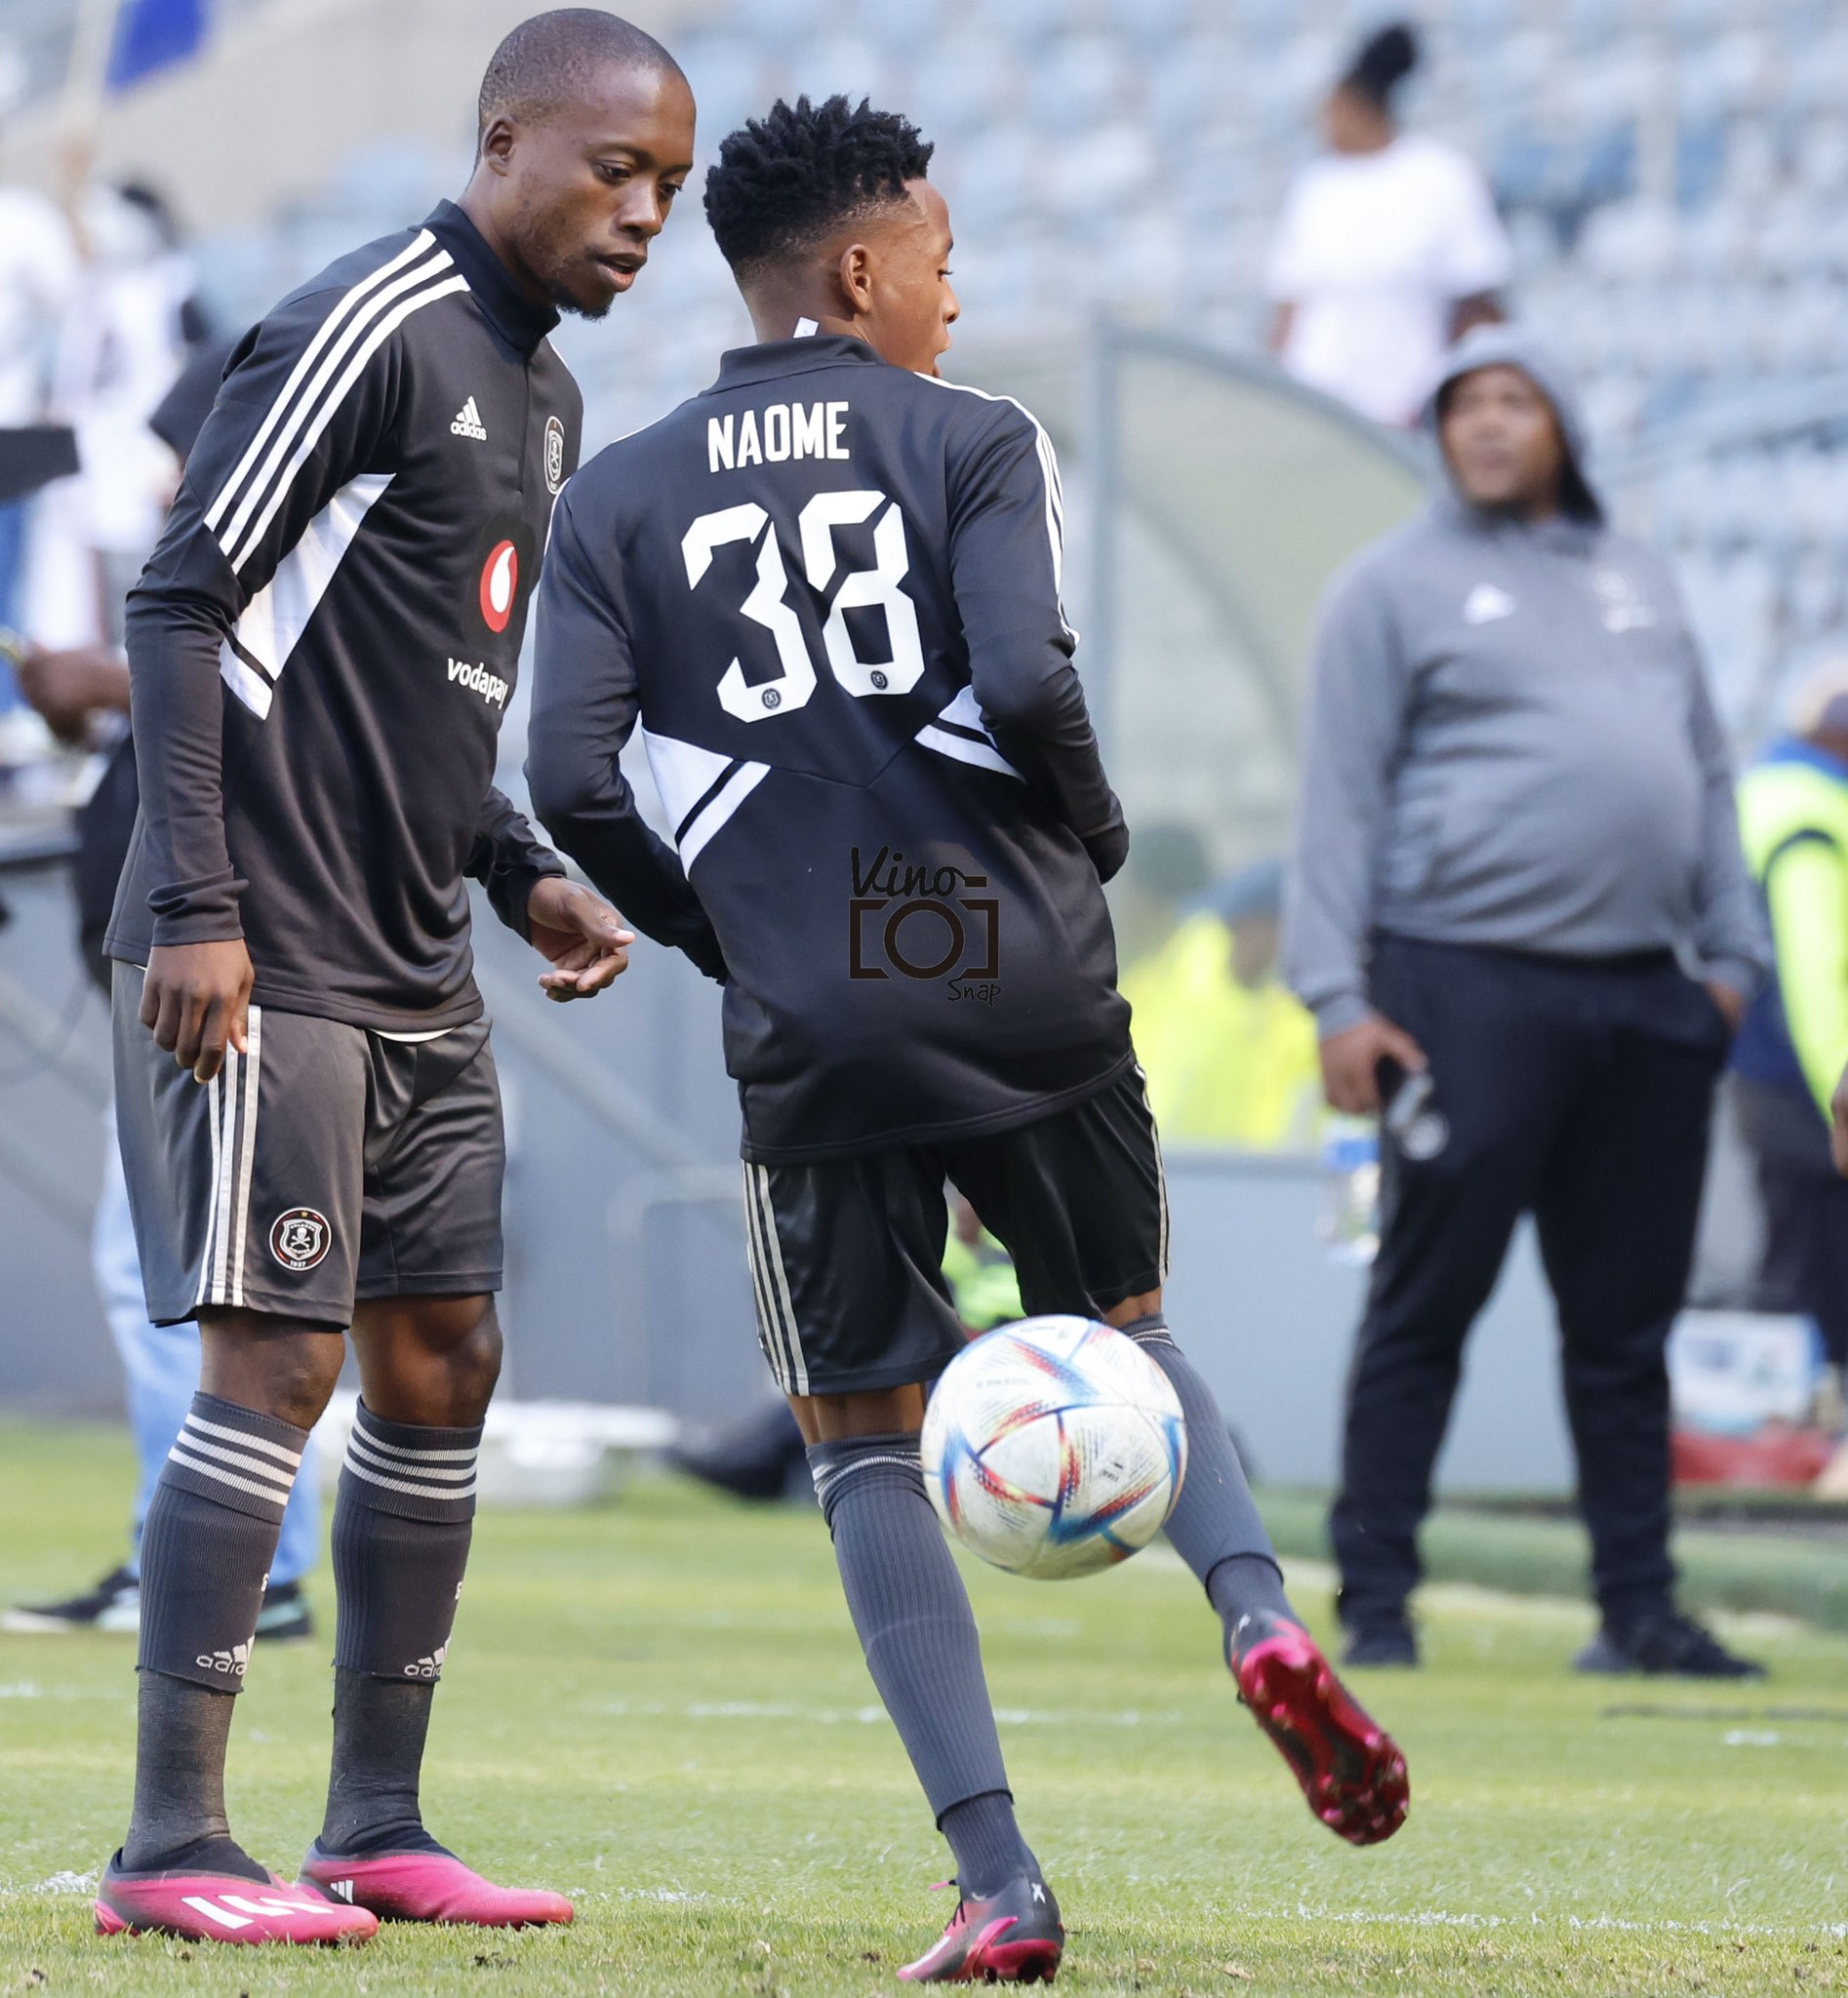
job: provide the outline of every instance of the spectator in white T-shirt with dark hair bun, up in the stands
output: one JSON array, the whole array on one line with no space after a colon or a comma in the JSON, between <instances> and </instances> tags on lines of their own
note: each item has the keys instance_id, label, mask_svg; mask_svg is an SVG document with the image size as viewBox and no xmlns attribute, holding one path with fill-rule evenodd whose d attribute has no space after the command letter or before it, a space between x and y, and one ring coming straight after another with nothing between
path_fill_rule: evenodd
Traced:
<instances>
[{"instance_id":1,"label":"spectator in white T-shirt with dark hair bun, up in the stands","mask_svg":"<svg viewBox=\"0 0 1848 1998\"><path fill-rule=\"evenodd\" d=\"M1502 316L1494 294L1512 264L1476 168L1392 118L1416 64L1402 24L1361 46L1329 94L1329 152L1297 176L1265 278L1283 366L1400 426L1418 420L1450 340Z\"/></svg>"}]
</instances>

